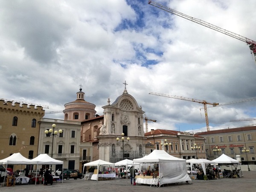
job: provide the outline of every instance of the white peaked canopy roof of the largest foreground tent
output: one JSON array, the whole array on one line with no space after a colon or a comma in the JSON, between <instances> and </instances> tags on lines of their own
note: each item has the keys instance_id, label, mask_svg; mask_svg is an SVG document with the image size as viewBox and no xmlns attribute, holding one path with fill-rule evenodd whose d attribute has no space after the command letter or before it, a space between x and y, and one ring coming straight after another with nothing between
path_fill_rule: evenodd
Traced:
<instances>
[{"instance_id":1,"label":"white peaked canopy roof of the largest foreground tent","mask_svg":"<svg viewBox=\"0 0 256 192\"><path fill-rule=\"evenodd\" d=\"M172 155L169 155L168 153L166 153L166 151L156 150L156 149L153 152L151 152L151 154L148 154L145 157L133 160L133 162L136 162L136 163L159 163L159 162L170 162L170 161L186 162L185 159L173 157Z\"/></svg>"}]
</instances>

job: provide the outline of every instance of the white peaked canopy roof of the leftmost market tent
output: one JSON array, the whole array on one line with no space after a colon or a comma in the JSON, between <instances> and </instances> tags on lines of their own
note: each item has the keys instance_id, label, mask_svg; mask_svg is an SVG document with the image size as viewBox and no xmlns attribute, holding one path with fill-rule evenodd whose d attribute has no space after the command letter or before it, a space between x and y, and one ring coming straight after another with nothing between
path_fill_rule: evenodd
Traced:
<instances>
[{"instance_id":1,"label":"white peaked canopy roof of the leftmost market tent","mask_svg":"<svg viewBox=\"0 0 256 192\"><path fill-rule=\"evenodd\" d=\"M33 163L30 159L23 157L20 153L14 153L10 157L0 160L0 164L8 165L32 165Z\"/></svg>"}]
</instances>

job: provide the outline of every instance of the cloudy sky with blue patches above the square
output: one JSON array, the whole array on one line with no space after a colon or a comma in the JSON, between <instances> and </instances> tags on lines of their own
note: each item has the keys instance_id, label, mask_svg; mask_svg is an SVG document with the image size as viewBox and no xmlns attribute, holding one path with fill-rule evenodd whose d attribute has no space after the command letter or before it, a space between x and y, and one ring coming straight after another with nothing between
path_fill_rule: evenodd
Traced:
<instances>
[{"instance_id":1,"label":"cloudy sky with blue patches above the square","mask_svg":"<svg viewBox=\"0 0 256 192\"><path fill-rule=\"evenodd\" d=\"M255 0L156 0L256 41ZM0 0L0 98L62 111L76 100L102 106L126 81L148 129L206 131L203 105L256 97L246 43L172 15L147 0ZM210 106L210 105L209 105ZM208 108L210 130L251 125L256 101ZM63 119L63 113L45 115ZM145 128L145 125L144 125Z\"/></svg>"}]
</instances>

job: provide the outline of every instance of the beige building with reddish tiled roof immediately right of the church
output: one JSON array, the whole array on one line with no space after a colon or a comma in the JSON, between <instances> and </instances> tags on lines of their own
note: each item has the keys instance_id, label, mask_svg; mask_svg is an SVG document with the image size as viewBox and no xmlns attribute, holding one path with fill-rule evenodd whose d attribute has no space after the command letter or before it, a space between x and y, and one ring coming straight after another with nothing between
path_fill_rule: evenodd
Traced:
<instances>
[{"instance_id":1,"label":"beige building with reddish tiled roof immediately right of the church","mask_svg":"<svg viewBox=\"0 0 256 192\"><path fill-rule=\"evenodd\" d=\"M206 159L204 137L195 136L188 132L156 129L145 133L146 154L150 154L154 149L165 150L174 157L182 159ZM165 141L166 140L166 141ZM168 143L167 146L161 145ZM171 143L172 145L169 145ZM195 145L196 144L196 145ZM199 147L197 150L192 147Z\"/></svg>"}]
</instances>

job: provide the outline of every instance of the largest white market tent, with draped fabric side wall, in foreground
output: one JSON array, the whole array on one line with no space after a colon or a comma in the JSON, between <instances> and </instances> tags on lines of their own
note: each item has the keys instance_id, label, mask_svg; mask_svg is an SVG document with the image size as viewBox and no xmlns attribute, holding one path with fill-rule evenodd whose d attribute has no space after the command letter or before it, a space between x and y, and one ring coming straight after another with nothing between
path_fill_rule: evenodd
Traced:
<instances>
[{"instance_id":1,"label":"largest white market tent, with draped fabric side wall, in foreground","mask_svg":"<svg viewBox=\"0 0 256 192\"><path fill-rule=\"evenodd\" d=\"M163 150L154 150L145 157L134 159L134 163L159 163L160 185L190 181L186 160L173 157Z\"/></svg>"}]
</instances>

